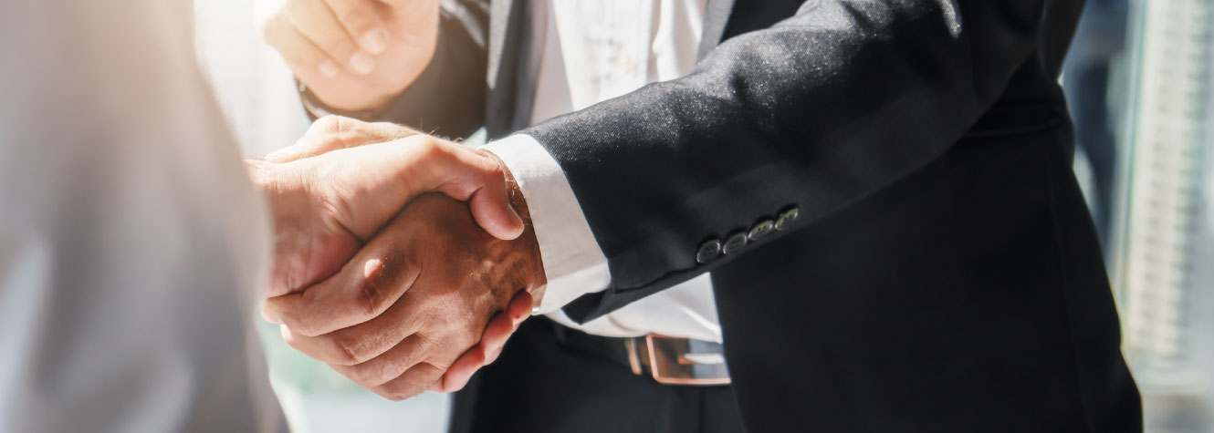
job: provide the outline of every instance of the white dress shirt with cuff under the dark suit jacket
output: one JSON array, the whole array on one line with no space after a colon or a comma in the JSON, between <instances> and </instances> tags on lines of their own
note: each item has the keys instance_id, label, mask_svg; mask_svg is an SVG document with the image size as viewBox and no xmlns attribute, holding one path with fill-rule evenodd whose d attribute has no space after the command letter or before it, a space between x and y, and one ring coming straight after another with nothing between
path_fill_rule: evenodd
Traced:
<instances>
[{"instance_id":1,"label":"white dress shirt with cuff under the dark suit jacket","mask_svg":"<svg viewBox=\"0 0 1214 433\"><path fill-rule=\"evenodd\" d=\"M549 0L532 2L539 56L532 124L681 78L696 65L705 0ZM605 336L662 334L721 341L708 274L577 324L560 310L611 281L578 199L556 160L534 138L515 135L486 149L500 156L527 198L548 290L540 313Z\"/></svg>"}]
</instances>

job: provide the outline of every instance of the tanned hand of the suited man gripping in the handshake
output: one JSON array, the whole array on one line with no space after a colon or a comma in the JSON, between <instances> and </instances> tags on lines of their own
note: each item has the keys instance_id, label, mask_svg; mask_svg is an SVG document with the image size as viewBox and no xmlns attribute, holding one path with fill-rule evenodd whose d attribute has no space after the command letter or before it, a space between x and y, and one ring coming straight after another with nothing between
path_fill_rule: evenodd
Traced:
<instances>
[{"instance_id":1,"label":"tanned hand of the suited man gripping in the handshake","mask_svg":"<svg viewBox=\"0 0 1214 433\"><path fill-rule=\"evenodd\" d=\"M526 204L516 199L527 221ZM302 292L267 300L265 312L284 325L283 337L296 349L398 400L427 388L463 386L471 371L492 361L526 317L531 300L510 304L511 298L545 283L529 227L515 240L495 239L464 204L426 194L340 273ZM506 314L490 324L503 310ZM469 352L482 332L492 338ZM442 380L465 352L470 357Z\"/></svg>"}]
</instances>

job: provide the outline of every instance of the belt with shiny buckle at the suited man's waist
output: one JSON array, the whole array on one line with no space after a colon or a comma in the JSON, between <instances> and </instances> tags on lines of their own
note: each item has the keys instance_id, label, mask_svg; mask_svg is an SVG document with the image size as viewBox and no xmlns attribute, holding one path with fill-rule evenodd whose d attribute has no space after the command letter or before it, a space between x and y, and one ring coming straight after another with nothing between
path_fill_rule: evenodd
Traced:
<instances>
[{"instance_id":1,"label":"belt with shiny buckle at the suited man's waist","mask_svg":"<svg viewBox=\"0 0 1214 433\"><path fill-rule=\"evenodd\" d=\"M603 337L552 325L557 341L583 352L606 357L632 371L666 384L730 384L721 343L651 334L642 337Z\"/></svg>"}]
</instances>

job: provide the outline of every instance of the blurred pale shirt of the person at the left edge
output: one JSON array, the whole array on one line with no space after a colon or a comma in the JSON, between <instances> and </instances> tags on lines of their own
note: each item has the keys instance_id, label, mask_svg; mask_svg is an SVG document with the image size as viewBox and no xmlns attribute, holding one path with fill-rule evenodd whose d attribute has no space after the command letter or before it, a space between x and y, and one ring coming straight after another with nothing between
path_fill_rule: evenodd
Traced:
<instances>
[{"instance_id":1,"label":"blurred pale shirt of the person at the left edge","mask_svg":"<svg viewBox=\"0 0 1214 433\"><path fill-rule=\"evenodd\" d=\"M279 432L270 227L189 1L0 13L0 432Z\"/></svg>"}]
</instances>

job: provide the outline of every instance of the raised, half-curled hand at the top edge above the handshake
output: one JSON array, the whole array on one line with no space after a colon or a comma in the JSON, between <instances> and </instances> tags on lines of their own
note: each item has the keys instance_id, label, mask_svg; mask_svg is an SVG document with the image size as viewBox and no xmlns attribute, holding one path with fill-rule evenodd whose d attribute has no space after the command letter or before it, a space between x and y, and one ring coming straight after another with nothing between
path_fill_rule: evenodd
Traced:
<instances>
[{"instance_id":1,"label":"raised, half-curled hand at the top edge above the handshake","mask_svg":"<svg viewBox=\"0 0 1214 433\"><path fill-rule=\"evenodd\" d=\"M257 27L329 107L374 109L430 64L438 0L263 0Z\"/></svg>"}]
</instances>

